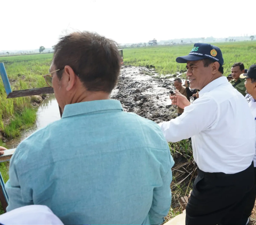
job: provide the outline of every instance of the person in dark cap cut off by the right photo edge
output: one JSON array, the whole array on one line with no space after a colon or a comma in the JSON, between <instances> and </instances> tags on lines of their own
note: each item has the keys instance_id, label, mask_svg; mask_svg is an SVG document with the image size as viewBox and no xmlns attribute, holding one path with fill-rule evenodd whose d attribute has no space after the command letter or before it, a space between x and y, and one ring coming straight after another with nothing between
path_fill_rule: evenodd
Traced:
<instances>
[{"instance_id":1,"label":"person in dark cap cut off by the right photo edge","mask_svg":"<svg viewBox=\"0 0 256 225\"><path fill-rule=\"evenodd\" d=\"M249 71L243 74L245 77L245 88L246 88L246 100L251 109L255 126L256 126L256 65L251 65ZM256 143L255 143L255 152L256 152ZM252 199L251 204L246 206L248 213L251 213L253 210L255 197L256 197L256 154L253 158L254 164L254 187L252 188L251 195L249 195L249 199Z\"/></svg>"}]
</instances>

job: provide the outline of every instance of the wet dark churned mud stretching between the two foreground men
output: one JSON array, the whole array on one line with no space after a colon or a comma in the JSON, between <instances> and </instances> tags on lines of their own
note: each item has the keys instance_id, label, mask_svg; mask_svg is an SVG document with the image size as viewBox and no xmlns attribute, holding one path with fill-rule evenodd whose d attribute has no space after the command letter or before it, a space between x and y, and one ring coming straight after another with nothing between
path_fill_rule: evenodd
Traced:
<instances>
[{"instance_id":1,"label":"wet dark churned mud stretching between the two foreground men","mask_svg":"<svg viewBox=\"0 0 256 225\"><path fill-rule=\"evenodd\" d=\"M111 98L121 101L126 112L134 112L156 123L177 116L177 106L171 105L172 77L161 78L154 69L123 66L119 82Z\"/></svg>"}]
</instances>

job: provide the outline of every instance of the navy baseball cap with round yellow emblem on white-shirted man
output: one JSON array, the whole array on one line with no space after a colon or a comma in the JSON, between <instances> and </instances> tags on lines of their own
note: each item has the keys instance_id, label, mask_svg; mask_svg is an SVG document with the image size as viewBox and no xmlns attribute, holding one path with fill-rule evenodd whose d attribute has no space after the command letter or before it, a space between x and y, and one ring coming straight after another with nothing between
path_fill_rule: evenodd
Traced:
<instances>
[{"instance_id":1,"label":"navy baseball cap with round yellow emblem on white-shirted man","mask_svg":"<svg viewBox=\"0 0 256 225\"><path fill-rule=\"evenodd\" d=\"M178 57L176 62L187 63L187 61L197 61L203 59L217 61L220 63L220 65L223 65L224 63L220 48L204 43L196 43L188 55Z\"/></svg>"}]
</instances>

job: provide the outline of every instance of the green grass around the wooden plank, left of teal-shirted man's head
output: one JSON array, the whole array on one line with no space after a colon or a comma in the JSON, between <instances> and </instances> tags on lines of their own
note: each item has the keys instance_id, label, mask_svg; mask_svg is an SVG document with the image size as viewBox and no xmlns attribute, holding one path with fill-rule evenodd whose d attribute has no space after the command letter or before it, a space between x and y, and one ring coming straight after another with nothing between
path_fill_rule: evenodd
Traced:
<instances>
[{"instance_id":1,"label":"green grass around the wooden plank, left of teal-shirted man's head","mask_svg":"<svg viewBox=\"0 0 256 225\"><path fill-rule=\"evenodd\" d=\"M0 57L4 62L12 90L46 87L42 75L48 73L52 54ZM6 99L3 82L0 82L0 131L6 138L17 137L20 131L36 120L36 111L30 97Z\"/></svg>"}]
</instances>

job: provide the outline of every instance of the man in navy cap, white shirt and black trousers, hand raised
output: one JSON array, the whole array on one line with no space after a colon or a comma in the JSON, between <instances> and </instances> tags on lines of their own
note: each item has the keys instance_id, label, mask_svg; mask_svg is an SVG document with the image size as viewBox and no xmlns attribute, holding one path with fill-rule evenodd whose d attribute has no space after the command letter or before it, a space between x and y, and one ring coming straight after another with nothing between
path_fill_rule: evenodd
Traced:
<instances>
[{"instance_id":1,"label":"man in navy cap, white shirt and black trousers, hand raised","mask_svg":"<svg viewBox=\"0 0 256 225\"><path fill-rule=\"evenodd\" d=\"M190 87L200 90L193 104L175 91L172 104L184 112L159 124L167 141L192 140L198 176L186 224L246 224L255 154L254 118L246 99L222 76L218 47L197 43L176 61L186 63Z\"/></svg>"}]
</instances>

